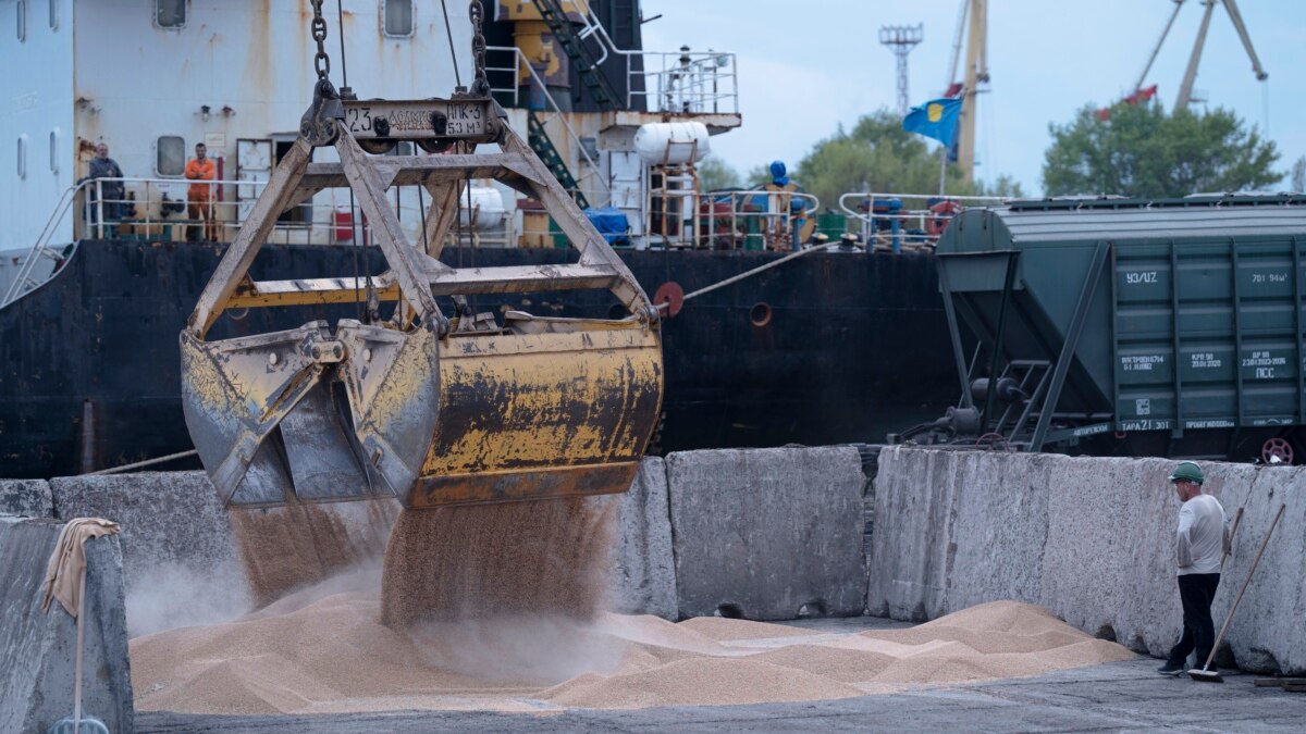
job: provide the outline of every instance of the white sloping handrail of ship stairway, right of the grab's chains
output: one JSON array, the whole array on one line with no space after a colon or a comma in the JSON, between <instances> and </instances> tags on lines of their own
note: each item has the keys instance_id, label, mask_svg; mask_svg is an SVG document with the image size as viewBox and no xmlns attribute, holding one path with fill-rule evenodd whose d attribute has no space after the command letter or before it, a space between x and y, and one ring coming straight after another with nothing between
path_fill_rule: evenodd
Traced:
<instances>
[{"instance_id":1,"label":"white sloping handrail of ship stairway, right of the grab's chains","mask_svg":"<svg viewBox=\"0 0 1306 734\"><path fill-rule=\"evenodd\" d=\"M526 71L525 74L522 69ZM545 80L535 72L535 67L530 64L530 60L521 52L521 48L516 46L486 46L486 73L492 80L512 80L509 88L491 89L498 99L511 99L512 107L521 107L521 95L525 89L528 107L532 111L543 112L539 121L545 125L545 129L547 131L552 123L559 124L571 149L576 152L576 155L586 166L585 171L573 171L573 174L580 174L576 175L576 188L585 195L590 205L606 206L613 200L613 191L607 184L607 179L602 175L603 170L596 161L598 150L596 149L590 154L589 149L581 141L580 135L576 133L576 128L571 125L558 101L549 91ZM569 193L575 193L575 191Z\"/></svg>"}]
</instances>

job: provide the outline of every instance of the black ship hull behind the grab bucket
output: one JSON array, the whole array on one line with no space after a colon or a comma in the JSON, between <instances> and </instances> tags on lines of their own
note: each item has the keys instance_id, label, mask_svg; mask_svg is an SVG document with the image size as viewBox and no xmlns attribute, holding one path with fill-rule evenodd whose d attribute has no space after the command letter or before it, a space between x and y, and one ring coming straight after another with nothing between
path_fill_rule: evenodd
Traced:
<instances>
[{"instance_id":1,"label":"black ship hull behind the grab bucket","mask_svg":"<svg viewBox=\"0 0 1306 734\"><path fill-rule=\"evenodd\" d=\"M84 242L0 310L0 477L76 474L191 448L178 333L222 246ZM650 294L686 293L778 257L622 252ZM562 263L560 249L449 249L461 266ZM253 276L384 269L375 248L268 246ZM609 316L607 293L479 296L479 311ZM619 308L619 307L618 307ZM355 316L353 306L251 310L213 337ZM815 253L686 302L663 324L662 452L882 441L940 415L956 376L932 257ZM197 465L193 461L191 465ZM179 468L182 464L166 468Z\"/></svg>"}]
</instances>

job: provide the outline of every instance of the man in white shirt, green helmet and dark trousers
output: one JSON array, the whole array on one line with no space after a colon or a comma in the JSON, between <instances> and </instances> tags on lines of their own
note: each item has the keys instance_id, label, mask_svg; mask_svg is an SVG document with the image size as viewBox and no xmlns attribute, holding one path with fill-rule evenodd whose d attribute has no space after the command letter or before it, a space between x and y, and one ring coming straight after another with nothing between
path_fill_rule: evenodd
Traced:
<instances>
[{"instance_id":1,"label":"man in white shirt, green helmet and dark trousers","mask_svg":"<svg viewBox=\"0 0 1306 734\"><path fill-rule=\"evenodd\" d=\"M1202 494L1205 477L1202 468L1185 461L1174 468L1170 483L1183 507L1175 532L1175 559L1179 567L1179 599L1183 602L1183 636L1170 648L1161 675L1178 675L1188 654L1196 650L1198 663L1205 662L1215 641L1211 602L1220 586L1220 559L1229 547L1229 519L1220 500Z\"/></svg>"}]
</instances>

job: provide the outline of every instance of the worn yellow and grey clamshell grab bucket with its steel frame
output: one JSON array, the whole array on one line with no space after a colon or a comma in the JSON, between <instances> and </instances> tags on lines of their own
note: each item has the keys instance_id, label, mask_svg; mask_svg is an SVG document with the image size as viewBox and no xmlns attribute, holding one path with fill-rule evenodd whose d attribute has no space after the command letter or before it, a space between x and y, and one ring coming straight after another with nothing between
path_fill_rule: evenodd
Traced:
<instances>
[{"instance_id":1,"label":"worn yellow and grey clamshell grab bucket with its steel frame","mask_svg":"<svg viewBox=\"0 0 1306 734\"><path fill-rule=\"evenodd\" d=\"M657 311L629 270L502 121L473 131L474 142L498 142L500 154L372 158L341 123L347 103L333 94L329 84L319 85L310 111L319 118L304 124L273 172L180 336L187 427L223 504L393 496L423 509L626 491L662 400ZM487 116L496 110L488 99L457 103L479 106ZM404 104L453 102L368 104L375 118L385 104L402 111ZM341 162L308 163L311 149L328 144ZM368 144L372 150L385 141ZM580 249L580 261L468 270L440 264L432 255L473 175L543 201ZM366 291L357 278L249 279L277 215L340 185L357 195L390 270ZM424 253L398 227L389 185L423 185L431 193ZM435 302L565 289L607 289L629 316L508 312L496 323L461 307L445 317ZM204 338L227 308L363 300L393 302L393 313L381 320L370 308L366 323L312 321Z\"/></svg>"}]
</instances>

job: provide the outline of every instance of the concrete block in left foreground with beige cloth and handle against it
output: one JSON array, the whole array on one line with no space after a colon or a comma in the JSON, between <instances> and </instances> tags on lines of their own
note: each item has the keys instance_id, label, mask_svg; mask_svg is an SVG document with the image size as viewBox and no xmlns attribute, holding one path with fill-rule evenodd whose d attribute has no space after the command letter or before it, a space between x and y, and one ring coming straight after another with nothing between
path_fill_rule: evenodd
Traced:
<instances>
[{"instance_id":1,"label":"concrete block in left foreground with beige cloth and handle against it","mask_svg":"<svg viewBox=\"0 0 1306 734\"><path fill-rule=\"evenodd\" d=\"M0 517L0 731L46 731L72 716L76 620L57 601L40 610L50 554L61 525ZM82 710L110 731L133 730L123 609L121 546L86 542Z\"/></svg>"}]
</instances>

